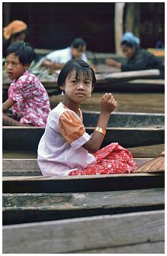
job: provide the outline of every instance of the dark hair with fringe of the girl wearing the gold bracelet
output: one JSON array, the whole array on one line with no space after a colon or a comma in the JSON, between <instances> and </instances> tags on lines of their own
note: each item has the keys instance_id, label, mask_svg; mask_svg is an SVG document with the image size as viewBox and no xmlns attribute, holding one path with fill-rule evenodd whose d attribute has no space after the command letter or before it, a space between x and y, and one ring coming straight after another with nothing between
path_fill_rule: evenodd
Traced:
<instances>
[{"instance_id":1,"label":"dark hair with fringe of the girl wearing the gold bracelet","mask_svg":"<svg viewBox=\"0 0 167 256\"><path fill-rule=\"evenodd\" d=\"M57 84L59 87L63 86L66 77L69 76L73 70L76 71L77 78L83 75L85 79L92 79L92 87L95 86L96 78L92 67L89 66L88 63L86 63L84 60L75 59L66 62L65 66L63 66L63 69L60 71L57 79Z\"/></svg>"}]
</instances>

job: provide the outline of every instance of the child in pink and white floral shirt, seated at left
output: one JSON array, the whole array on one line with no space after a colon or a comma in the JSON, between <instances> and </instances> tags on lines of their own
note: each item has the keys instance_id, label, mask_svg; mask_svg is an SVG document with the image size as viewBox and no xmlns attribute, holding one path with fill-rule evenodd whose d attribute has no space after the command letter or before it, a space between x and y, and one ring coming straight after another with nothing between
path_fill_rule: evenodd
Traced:
<instances>
[{"instance_id":1,"label":"child in pink and white floral shirt, seated at left","mask_svg":"<svg viewBox=\"0 0 167 256\"><path fill-rule=\"evenodd\" d=\"M12 107L14 115L3 113L3 125L31 125L45 127L50 112L50 100L37 76L27 69L34 60L33 48L24 42L11 44L5 54L5 69L14 79L8 89L8 99L2 105L6 112ZM14 120L17 119L17 120Z\"/></svg>"}]
</instances>

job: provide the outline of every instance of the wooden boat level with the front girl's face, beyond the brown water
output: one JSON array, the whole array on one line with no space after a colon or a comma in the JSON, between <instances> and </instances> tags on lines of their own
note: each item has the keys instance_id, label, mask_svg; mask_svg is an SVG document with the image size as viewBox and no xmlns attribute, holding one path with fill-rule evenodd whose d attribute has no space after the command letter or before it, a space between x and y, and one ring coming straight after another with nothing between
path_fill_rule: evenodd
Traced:
<instances>
[{"instance_id":1,"label":"wooden boat level with the front girl's face, beyond the brown water","mask_svg":"<svg viewBox=\"0 0 167 256\"><path fill-rule=\"evenodd\" d=\"M159 70L137 70L115 73L97 73L95 92L165 92L165 80L158 79ZM3 93L8 90L11 81L4 79ZM59 93L57 79L41 80L49 95Z\"/></svg>"}]
</instances>

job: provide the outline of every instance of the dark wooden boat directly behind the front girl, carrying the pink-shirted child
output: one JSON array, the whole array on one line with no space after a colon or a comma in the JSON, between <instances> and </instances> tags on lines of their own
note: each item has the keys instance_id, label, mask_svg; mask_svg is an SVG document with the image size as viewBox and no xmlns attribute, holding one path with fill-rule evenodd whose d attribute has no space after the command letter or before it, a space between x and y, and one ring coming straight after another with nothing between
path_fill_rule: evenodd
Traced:
<instances>
[{"instance_id":1,"label":"dark wooden boat directly behind the front girl, carrying the pink-shirted child","mask_svg":"<svg viewBox=\"0 0 167 256\"><path fill-rule=\"evenodd\" d=\"M99 112L83 113L83 122L88 134L94 131L98 115ZM101 147L115 141L123 147L164 144L164 120L164 114L114 112L109 119ZM44 128L4 126L3 149L37 151L43 132Z\"/></svg>"}]
</instances>

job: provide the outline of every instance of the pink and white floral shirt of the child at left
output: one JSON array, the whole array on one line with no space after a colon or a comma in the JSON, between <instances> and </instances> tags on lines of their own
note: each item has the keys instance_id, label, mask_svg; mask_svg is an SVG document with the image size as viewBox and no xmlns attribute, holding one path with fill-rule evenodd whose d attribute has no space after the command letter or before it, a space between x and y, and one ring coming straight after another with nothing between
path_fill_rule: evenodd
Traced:
<instances>
[{"instance_id":1,"label":"pink and white floral shirt of the child at left","mask_svg":"<svg viewBox=\"0 0 167 256\"><path fill-rule=\"evenodd\" d=\"M8 89L8 98L16 103L12 111L21 117L24 125L45 127L50 113L50 99L40 80L28 70L14 79Z\"/></svg>"}]
</instances>

